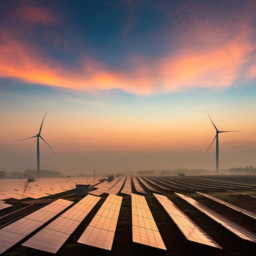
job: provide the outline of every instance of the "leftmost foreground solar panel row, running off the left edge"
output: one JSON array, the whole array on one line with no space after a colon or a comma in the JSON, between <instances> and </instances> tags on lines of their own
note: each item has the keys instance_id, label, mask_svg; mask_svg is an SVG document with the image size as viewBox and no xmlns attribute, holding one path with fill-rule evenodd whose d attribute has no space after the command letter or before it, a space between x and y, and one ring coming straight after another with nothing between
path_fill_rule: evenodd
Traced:
<instances>
[{"instance_id":1,"label":"leftmost foreground solar panel row, running off the left edge","mask_svg":"<svg viewBox=\"0 0 256 256\"><path fill-rule=\"evenodd\" d=\"M19 242L21 239L41 227L51 218L69 207L73 202L58 199L55 202L21 218L0 229L0 254Z\"/></svg>"}]
</instances>

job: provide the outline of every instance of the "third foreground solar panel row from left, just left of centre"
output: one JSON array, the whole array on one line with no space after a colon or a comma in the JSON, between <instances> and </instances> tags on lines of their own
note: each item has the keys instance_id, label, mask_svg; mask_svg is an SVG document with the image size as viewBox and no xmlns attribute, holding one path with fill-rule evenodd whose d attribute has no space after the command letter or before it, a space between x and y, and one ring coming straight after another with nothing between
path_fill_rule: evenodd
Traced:
<instances>
[{"instance_id":1,"label":"third foreground solar panel row from left, just left of centre","mask_svg":"<svg viewBox=\"0 0 256 256\"><path fill-rule=\"evenodd\" d=\"M111 250L121 204L122 197L110 194L78 242Z\"/></svg>"}]
</instances>

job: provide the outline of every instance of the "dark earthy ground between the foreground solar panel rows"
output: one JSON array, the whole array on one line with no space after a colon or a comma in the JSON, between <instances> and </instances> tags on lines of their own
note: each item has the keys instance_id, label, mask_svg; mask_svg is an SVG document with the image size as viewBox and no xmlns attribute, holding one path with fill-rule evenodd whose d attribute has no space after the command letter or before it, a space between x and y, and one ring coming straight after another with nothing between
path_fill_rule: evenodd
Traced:
<instances>
[{"instance_id":1,"label":"dark earthy ground between the foreground solar panel rows","mask_svg":"<svg viewBox=\"0 0 256 256\"><path fill-rule=\"evenodd\" d=\"M71 191L73 193L73 191ZM70 192L70 193L71 193ZM251 191L250 191L251 192ZM70 236L66 243L61 247L61 249L56 253L56 255L67 255L67 256L80 256L84 254L93 256L146 256L146 255L163 255L163 256L233 256L233 255L243 255L243 256L253 256L255 255L256 244L246 242L244 247L244 241L239 239L230 231L221 227L220 224L215 223L210 218L201 214L197 209L190 206L186 201L179 198L174 193L165 194L173 203L176 204L186 215L189 216L199 227L201 227L212 239L214 239L222 248L215 249L212 247L207 247L204 245L198 245L195 243L190 243L185 239L180 230L176 227L172 219L163 209L163 207L158 204L157 199L153 195L145 195L146 201L149 208L151 209L152 215L156 221L157 227L163 238L167 250L159 250L154 247L143 246L142 244L135 244L132 241L132 225L131 225L131 196L124 196L122 200L122 206L119 214L119 219L116 227L115 238L113 241L113 247L111 251L102 250L96 247L91 247L84 244L77 243L77 240L84 232L87 225L90 223L96 212L99 210L102 203L105 201L106 195L102 196L102 199L96 204L93 210L87 215L84 221L81 222L79 227ZM235 214L233 210L227 209L227 207L221 206L208 198L203 196L198 196L198 194L190 192L188 194L190 197L201 202L207 207L215 210L216 212L224 215L230 220L240 224L247 230L256 233L256 223L255 220L246 218L241 214ZM256 202L255 198L249 198L241 194L230 194L230 193L215 193L212 194L217 198L220 198L228 203L234 204L241 208L250 210L256 213ZM77 201L78 199L74 195L65 195L67 199ZM20 203L17 203L20 205ZM12 207L10 207L12 208ZM45 225L44 225L45 226ZM44 227L43 226L43 227ZM35 233L32 233L27 238L31 237ZM26 239L27 239L26 238ZM24 247L20 243L16 244L10 250L3 253L4 256L14 256L14 255L52 255L51 253L42 252L40 250L31 249Z\"/></svg>"}]
</instances>

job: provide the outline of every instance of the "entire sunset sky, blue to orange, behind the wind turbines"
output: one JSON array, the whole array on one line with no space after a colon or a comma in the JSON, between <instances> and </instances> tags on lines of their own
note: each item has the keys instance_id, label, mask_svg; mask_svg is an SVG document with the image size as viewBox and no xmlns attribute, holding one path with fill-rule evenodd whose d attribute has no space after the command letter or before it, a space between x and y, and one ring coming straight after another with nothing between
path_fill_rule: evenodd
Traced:
<instances>
[{"instance_id":1,"label":"entire sunset sky, blue to orange, behind the wind turbines","mask_svg":"<svg viewBox=\"0 0 256 256\"><path fill-rule=\"evenodd\" d=\"M256 166L255 0L0 0L0 171ZM207 113L208 111L208 113ZM21 141L16 141L21 140Z\"/></svg>"}]
</instances>

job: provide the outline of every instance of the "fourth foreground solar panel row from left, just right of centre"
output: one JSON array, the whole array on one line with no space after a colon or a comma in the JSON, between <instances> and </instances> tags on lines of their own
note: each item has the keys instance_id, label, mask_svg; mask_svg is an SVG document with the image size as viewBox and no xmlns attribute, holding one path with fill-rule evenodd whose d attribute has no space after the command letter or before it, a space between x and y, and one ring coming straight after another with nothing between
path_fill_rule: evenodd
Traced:
<instances>
[{"instance_id":1,"label":"fourth foreground solar panel row from left, just right of centre","mask_svg":"<svg viewBox=\"0 0 256 256\"><path fill-rule=\"evenodd\" d=\"M131 194L132 241L166 250L145 197Z\"/></svg>"}]
</instances>

